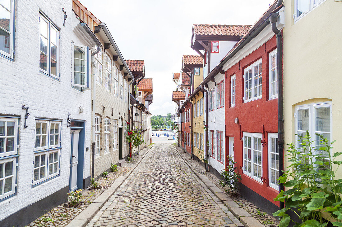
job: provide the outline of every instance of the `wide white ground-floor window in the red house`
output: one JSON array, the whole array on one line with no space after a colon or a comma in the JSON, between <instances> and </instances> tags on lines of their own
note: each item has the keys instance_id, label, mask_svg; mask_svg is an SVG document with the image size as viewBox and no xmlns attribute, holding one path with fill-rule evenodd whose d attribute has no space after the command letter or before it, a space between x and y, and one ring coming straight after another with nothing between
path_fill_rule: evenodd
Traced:
<instances>
[{"instance_id":1,"label":"wide white ground-floor window in the red house","mask_svg":"<svg viewBox=\"0 0 342 227\"><path fill-rule=\"evenodd\" d=\"M262 134L244 133L244 174L261 181Z\"/></svg>"}]
</instances>

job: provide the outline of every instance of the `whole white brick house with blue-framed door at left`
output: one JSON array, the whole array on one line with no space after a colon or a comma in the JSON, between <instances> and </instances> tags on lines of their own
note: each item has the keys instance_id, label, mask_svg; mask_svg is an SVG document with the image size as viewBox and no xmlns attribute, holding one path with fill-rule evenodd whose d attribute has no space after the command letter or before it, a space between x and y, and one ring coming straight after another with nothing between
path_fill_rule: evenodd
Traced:
<instances>
[{"instance_id":1,"label":"whole white brick house with blue-framed door at left","mask_svg":"<svg viewBox=\"0 0 342 227\"><path fill-rule=\"evenodd\" d=\"M0 5L11 12L10 35L0 35L0 226L24 226L89 185L96 40L69 0L9 2Z\"/></svg>"}]
</instances>

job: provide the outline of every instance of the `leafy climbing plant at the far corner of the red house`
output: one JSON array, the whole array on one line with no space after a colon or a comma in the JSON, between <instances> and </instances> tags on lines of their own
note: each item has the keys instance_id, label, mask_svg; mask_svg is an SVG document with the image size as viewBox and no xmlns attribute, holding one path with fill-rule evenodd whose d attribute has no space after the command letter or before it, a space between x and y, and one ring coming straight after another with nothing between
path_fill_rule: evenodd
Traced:
<instances>
[{"instance_id":1,"label":"leafy climbing plant at the far corner of the red house","mask_svg":"<svg viewBox=\"0 0 342 227\"><path fill-rule=\"evenodd\" d=\"M232 156L229 155L226 170L221 171L221 178L219 183L222 187L228 187L225 191L229 195L239 194L239 179L241 180L240 173L237 173L237 167L235 167Z\"/></svg>"}]
</instances>

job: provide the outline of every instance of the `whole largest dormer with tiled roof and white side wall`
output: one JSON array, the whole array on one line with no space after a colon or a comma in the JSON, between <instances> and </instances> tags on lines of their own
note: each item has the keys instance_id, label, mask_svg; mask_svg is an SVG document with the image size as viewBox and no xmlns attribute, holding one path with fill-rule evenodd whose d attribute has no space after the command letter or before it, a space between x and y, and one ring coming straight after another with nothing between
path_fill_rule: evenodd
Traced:
<instances>
[{"instance_id":1,"label":"whole largest dormer with tiled roof and white side wall","mask_svg":"<svg viewBox=\"0 0 342 227\"><path fill-rule=\"evenodd\" d=\"M250 29L250 25L193 25L191 48L204 59L204 77Z\"/></svg>"}]
</instances>

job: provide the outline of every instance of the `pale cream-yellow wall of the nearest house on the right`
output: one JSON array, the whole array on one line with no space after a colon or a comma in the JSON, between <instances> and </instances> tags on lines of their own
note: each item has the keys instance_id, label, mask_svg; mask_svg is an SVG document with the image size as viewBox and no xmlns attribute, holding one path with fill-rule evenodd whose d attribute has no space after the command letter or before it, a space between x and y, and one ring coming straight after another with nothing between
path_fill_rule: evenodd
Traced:
<instances>
[{"instance_id":1,"label":"pale cream-yellow wall of the nearest house on the right","mask_svg":"<svg viewBox=\"0 0 342 227\"><path fill-rule=\"evenodd\" d=\"M333 152L341 152L342 2L325 0L296 22L293 19L293 9L293 0L285 1L283 39L285 143L294 141L294 106L330 100L332 101L332 140L337 139ZM288 165L285 163L285 166ZM341 171L339 170L338 173L340 178Z\"/></svg>"}]
</instances>

